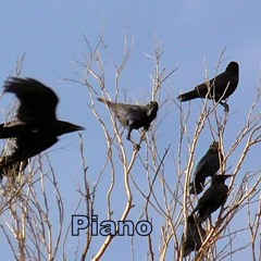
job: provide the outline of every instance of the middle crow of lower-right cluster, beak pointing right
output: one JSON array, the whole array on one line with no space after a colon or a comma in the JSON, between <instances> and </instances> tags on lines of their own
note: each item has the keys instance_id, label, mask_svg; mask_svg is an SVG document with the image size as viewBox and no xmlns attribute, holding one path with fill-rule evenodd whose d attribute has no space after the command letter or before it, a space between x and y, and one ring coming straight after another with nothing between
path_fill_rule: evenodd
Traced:
<instances>
[{"instance_id":1,"label":"middle crow of lower-right cluster, beak pointing right","mask_svg":"<svg viewBox=\"0 0 261 261\"><path fill-rule=\"evenodd\" d=\"M212 177L211 186L206 190L199 199L197 207L191 212L198 212L197 223L204 222L211 213L216 211L225 203L228 192L228 187L224 184L225 179L232 175L216 175Z\"/></svg>"}]
</instances>

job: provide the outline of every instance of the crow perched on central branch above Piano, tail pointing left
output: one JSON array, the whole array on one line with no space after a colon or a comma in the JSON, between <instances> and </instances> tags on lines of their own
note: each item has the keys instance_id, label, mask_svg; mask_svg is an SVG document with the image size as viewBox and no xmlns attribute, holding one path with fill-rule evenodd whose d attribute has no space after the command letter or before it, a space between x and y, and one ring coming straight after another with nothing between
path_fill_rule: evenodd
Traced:
<instances>
[{"instance_id":1,"label":"crow perched on central branch above Piano, tail pointing left","mask_svg":"<svg viewBox=\"0 0 261 261\"><path fill-rule=\"evenodd\" d=\"M98 100L104 102L113 111L119 122L127 128L127 140L130 140L133 129L144 127L145 130L148 130L159 109L157 101L151 101L147 105L135 105L111 102L103 98L98 98Z\"/></svg>"}]
</instances>

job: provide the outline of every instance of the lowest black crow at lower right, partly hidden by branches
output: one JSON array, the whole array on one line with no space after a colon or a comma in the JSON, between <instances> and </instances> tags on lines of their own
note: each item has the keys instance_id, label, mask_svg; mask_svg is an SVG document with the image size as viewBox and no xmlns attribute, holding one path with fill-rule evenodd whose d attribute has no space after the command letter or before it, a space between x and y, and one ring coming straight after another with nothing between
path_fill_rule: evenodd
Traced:
<instances>
[{"instance_id":1,"label":"lowest black crow at lower right, partly hidden by branches","mask_svg":"<svg viewBox=\"0 0 261 261\"><path fill-rule=\"evenodd\" d=\"M187 225L187 238L182 237L182 246L184 251L184 257L189 254L191 251L198 251L206 238L206 231L201 227L201 224L196 224L194 216L188 216Z\"/></svg>"}]
</instances>

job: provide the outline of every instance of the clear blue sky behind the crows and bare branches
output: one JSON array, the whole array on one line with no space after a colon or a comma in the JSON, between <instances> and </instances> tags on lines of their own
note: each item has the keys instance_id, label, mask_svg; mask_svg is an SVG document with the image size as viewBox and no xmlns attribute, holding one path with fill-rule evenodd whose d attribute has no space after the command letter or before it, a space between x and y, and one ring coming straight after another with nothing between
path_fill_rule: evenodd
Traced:
<instances>
[{"instance_id":1,"label":"clear blue sky behind the crows and bare branches","mask_svg":"<svg viewBox=\"0 0 261 261\"><path fill-rule=\"evenodd\" d=\"M229 61L237 61L240 65L239 86L228 101L232 119L226 130L225 147L229 148L234 141L234 135L245 123L246 112L256 95L261 63L260 11L261 2L258 0L251 3L239 0L236 4L235 1L222 3L220 1L154 0L1 1L0 83L3 83L10 74L14 74L17 60L25 54L21 76L35 77L51 86L60 97L58 116L86 127L83 137L91 183L96 181L100 165L98 159L104 159L102 129L88 110L88 89L61 80L62 78L83 80L84 70L76 62L83 62L85 53L88 52L84 35L91 45L95 45L104 24L104 42L117 62L123 57L124 37L127 35L129 42L134 42L134 51L123 73L121 87L127 88L130 100L142 102L151 99L152 83L149 75L153 74L154 64L146 53L154 54L156 39L161 42L164 52L162 66L169 71L173 67L178 69L164 83L162 89L164 97L171 94L175 98L181 91L189 90L203 82L206 64L209 76L213 76L216 73L219 58L225 49L226 60L220 65L219 73ZM110 71L110 65L108 70ZM115 91L113 73L107 75L107 83L113 96ZM13 99L13 96L5 95L0 101L1 110L4 110ZM191 134L199 104L199 101L191 103L194 108L189 121ZM184 104L184 109L186 108L188 103ZM99 110L107 113L102 105L99 105ZM161 136L159 147L163 154L164 148L172 144L171 156L165 164L170 175L174 175L171 172L175 172L173 161L175 161L179 135L178 113L177 108L169 103L162 108L159 117L166 112L170 114L164 120L165 124L162 124L159 129ZM4 120L3 114L1 119ZM206 133L204 138L199 140L196 161L206 152L206 142L209 146L211 141L211 137ZM82 184L78 146L77 134L70 134L62 136L61 140L49 150L49 157L66 202L67 221L78 199L76 190ZM130 146L129 149L132 149ZM234 156L235 159L237 157L237 154ZM257 170L260 167L258 163L257 158L249 160L250 165L244 165L244 171L249 167ZM229 165L233 165L233 162L229 162ZM170 182L175 184L175 179L170 178ZM120 189L116 192L122 191ZM142 201L139 201L138 196L136 197L135 203L142 206ZM160 225L161 222L159 221L158 224ZM69 249L69 257L73 257L76 243L74 238L70 240L72 240L72 249ZM0 243L3 244L2 239ZM119 247L123 251L123 257L128 257L129 239L121 238L115 239L103 260L112 260L112 257L113 260L120 260L116 256ZM244 253L249 257L247 251ZM9 250L1 250L0 254L5 258ZM145 252L138 250L136 259L144 260Z\"/></svg>"}]
</instances>

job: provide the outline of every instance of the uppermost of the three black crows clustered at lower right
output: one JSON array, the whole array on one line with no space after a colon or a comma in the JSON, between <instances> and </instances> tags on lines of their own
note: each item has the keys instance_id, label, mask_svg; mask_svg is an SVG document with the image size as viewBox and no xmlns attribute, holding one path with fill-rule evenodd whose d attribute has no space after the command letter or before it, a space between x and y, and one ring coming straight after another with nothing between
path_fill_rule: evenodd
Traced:
<instances>
[{"instance_id":1,"label":"uppermost of the three black crows clustered at lower right","mask_svg":"<svg viewBox=\"0 0 261 261\"><path fill-rule=\"evenodd\" d=\"M213 142L208 152L199 161L194 173L194 181L189 184L190 194L200 194L204 187L204 181L208 176L214 176L220 170L219 142ZM223 157L221 157L223 158ZM223 160L223 159L221 159Z\"/></svg>"}]
</instances>

